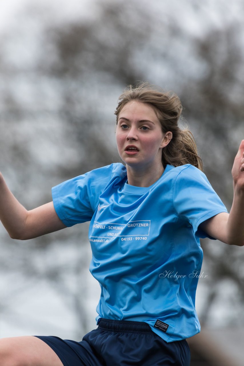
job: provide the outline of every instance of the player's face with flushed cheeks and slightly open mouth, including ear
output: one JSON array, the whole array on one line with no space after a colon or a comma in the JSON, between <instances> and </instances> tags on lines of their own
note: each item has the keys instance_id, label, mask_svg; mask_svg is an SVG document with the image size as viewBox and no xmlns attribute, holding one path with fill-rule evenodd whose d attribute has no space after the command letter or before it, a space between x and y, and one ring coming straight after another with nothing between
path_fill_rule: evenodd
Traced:
<instances>
[{"instance_id":1,"label":"player's face with flushed cheeks and slightly open mouth, including ear","mask_svg":"<svg viewBox=\"0 0 244 366\"><path fill-rule=\"evenodd\" d=\"M130 167L150 169L162 165L162 148L168 145L171 132L163 134L154 109L132 101L121 109L116 127L119 155Z\"/></svg>"}]
</instances>

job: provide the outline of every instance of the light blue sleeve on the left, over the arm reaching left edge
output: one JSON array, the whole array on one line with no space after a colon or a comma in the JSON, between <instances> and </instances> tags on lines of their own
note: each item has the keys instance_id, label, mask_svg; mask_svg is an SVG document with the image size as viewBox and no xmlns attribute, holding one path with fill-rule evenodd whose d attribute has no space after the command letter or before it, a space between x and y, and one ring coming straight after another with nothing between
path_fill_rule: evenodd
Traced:
<instances>
[{"instance_id":1,"label":"light blue sleeve on the left, over the arm reaching left edge","mask_svg":"<svg viewBox=\"0 0 244 366\"><path fill-rule=\"evenodd\" d=\"M112 165L94 169L52 188L55 211L66 226L91 220L112 170Z\"/></svg>"}]
</instances>

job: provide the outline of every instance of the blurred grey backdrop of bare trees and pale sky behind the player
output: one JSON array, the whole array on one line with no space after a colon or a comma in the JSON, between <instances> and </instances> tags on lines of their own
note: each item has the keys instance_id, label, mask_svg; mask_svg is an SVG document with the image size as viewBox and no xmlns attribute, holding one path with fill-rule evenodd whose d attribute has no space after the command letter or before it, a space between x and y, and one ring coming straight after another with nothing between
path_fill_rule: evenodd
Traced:
<instances>
[{"instance_id":1,"label":"blurred grey backdrop of bare trees and pale sky behind the player","mask_svg":"<svg viewBox=\"0 0 244 366\"><path fill-rule=\"evenodd\" d=\"M230 210L231 168L244 138L243 19L243 0L1 4L0 170L15 196L31 209L52 199L52 186L117 162L118 97L149 81L180 96L182 122ZM200 323L208 338L234 339L244 325L243 247L207 239L202 247ZM26 242L1 226L0 337L80 340L95 328L100 287L90 259L88 224ZM192 365L194 357L198 366L217 365L211 357L201 363L197 344Z\"/></svg>"}]
</instances>

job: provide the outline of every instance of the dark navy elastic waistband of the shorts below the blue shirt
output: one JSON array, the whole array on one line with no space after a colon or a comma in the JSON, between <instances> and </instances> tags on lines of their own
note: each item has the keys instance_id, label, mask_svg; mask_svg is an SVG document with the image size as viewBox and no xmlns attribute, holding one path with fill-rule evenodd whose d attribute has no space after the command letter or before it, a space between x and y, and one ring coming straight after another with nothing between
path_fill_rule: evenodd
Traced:
<instances>
[{"instance_id":1,"label":"dark navy elastic waistband of the shorts below the blue shirt","mask_svg":"<svg viewBox=\"0 0 244 366\"><path fill-rule=\"evenodd\" d=\"M101 330L111 330L112 332L138 332L153 333L150 325L141 321L113 320L100 318L98 328Z\"/></svg>"}]
</instances>

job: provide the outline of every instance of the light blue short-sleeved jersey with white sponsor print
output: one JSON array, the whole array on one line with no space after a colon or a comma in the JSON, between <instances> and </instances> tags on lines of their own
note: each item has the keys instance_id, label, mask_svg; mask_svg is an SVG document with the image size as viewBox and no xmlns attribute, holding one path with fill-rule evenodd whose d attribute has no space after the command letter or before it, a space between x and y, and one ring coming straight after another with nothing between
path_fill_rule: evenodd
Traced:
<instances>
[{"instance_id":1,"label":"light blue short-sleeved jersey with white sponsor print","mask_svg":"<svg viewBox=\"0 0 244 366\"><path fill-rule=\"evenodd\" d=\"M53 187L66 226L91 221L90 271L101 286L99 318L147 322L165 341L200 332L195 294L202 266L199 224L227 212L204 173L167 165L150 187L131 186L123 164ZM214 238L212 238L214 239Z\"/></svg>"}]
</instances>

